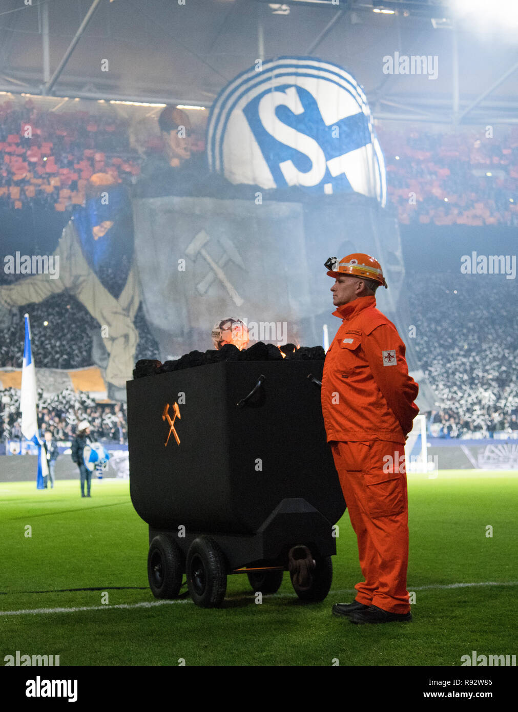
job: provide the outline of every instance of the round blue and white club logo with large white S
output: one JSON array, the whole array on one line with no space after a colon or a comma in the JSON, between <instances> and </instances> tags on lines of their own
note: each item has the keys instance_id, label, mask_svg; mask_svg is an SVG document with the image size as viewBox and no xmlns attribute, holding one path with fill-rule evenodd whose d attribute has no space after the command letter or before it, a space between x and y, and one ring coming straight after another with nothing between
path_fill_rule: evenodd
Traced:
<instances>
[{"instance_id":1,"label":"round blue and white club logo with large white S","mask_svg":"<svg viewBox=\"0 0 518 712\"><path fill-rule=\"evenodd\" d=\"M385 162L366 95L346 70L283 57L222 90L207 125L213 172L234 184L358 192L385 205Z\"/></svg>"}]
</instances>

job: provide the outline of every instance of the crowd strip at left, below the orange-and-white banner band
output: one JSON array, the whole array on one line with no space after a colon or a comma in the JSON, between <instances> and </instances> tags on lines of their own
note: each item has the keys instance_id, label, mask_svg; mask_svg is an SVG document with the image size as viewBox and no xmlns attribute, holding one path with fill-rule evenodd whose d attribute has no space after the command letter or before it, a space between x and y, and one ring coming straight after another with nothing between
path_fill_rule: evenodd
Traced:
<instances>
[{"instance_id":1,"label":"crowd strip at left, below the orange-and-white banner band","mask_svg":"<svg viewBox=\"0 0 518 712\"><path fill-rule=\"evenodd\" d=\"M21 439L20 392L0 390L0 439ZM126 407L123 403L98 404L88 393L68 388L52 396L38 391L38 426L41 436L49 430L57 441L71 441L78 423L88 420L93 441L128 441Z\"/></svg>"}]
</instances>

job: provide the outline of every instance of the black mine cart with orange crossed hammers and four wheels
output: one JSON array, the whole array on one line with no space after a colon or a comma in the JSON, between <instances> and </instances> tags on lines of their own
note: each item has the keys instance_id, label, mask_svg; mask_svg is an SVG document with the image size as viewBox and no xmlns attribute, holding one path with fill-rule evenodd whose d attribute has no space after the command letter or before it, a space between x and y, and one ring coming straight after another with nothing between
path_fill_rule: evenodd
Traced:
<instances>
[{"instance_id":1,"label":"black mine cart with orange crossed hammers and four wheels","mask_svg":"<svg viewBox=\"0 0 518 712\"><path fill-rule=\"evenodd\" d=\"M320 404L323 361L223 361L128 382L131 501L157 598L222 604L227 575L274 593L331 588L345 511Z\"/></svg>"}]
</instances>

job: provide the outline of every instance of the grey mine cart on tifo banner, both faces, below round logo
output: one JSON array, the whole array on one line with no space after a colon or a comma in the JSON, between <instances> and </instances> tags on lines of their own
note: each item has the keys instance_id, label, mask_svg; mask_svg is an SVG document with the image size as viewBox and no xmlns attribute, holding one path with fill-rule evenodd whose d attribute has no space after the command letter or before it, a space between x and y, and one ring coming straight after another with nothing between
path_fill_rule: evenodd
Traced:
<instances>
[{"instance_id":1,"label":"grey mine cart on tifo banner, both faces, below round logo","mask_svg":"<svg viewBox=\"0 0 518 712\"><path fill-rule=\"evenodd\" d=\"M254 340L320 344L323 323L331 331L339 325L323 266L336 253L385 255L389 290L378 290L378 306L392 315L403 264L393 221L385 224L383 248L379 212L361 197L261 206L174 196L135 201L135 259L160 358L177 356L177 343L212 348L214 323L234 315Z\"/></svg>"}]
</instances>

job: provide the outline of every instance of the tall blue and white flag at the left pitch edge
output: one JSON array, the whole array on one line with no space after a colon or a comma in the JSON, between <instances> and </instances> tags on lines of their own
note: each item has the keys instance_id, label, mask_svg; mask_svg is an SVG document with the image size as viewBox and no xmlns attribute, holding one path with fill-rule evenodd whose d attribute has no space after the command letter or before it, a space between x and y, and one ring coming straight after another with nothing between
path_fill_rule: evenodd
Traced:
<instances>
[{"instance_id":1,"label":"tall blue and white flag at the left pitch edge","mask_svg":"<svg viewBox=\"0 0 518 712\"><path fill-rule=\"evenodd\" d=\"M38 473L36 487L43 489L43 476L48 475L46 457L41 456L42 442L38 434L38 415L36 413L36 369L32 360L31 325L29 314L25 315L24 367L21 370L21 433L38 446Z\"/></svg>"}]
</instances>

